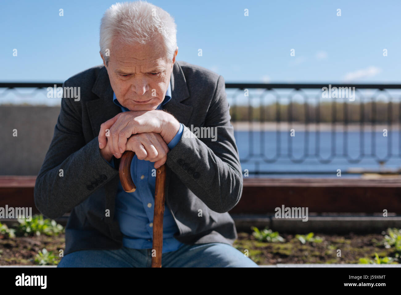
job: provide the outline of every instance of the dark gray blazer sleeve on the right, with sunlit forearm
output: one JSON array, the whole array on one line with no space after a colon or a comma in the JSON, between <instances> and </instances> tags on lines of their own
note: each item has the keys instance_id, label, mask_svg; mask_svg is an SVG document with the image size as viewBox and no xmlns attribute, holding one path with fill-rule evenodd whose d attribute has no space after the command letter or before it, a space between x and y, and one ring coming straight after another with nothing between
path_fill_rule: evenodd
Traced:
<instances>
[{"instance_id":1,"label":"dark gray blazer sleeve on the right, with sunlit forearm","mask_svg":"<svg viewBox=\"0 0 401 295\"><path fill-rule=\"evenodd\" d=\"M180 141L167 153L167 165L211 210L228 212L239 202L243 178L225 81L219 76L203 127L217 130L217 140L197 138L184 126ZM188 136L188 134L192 134Z\"/></svg>"}]
</instances>

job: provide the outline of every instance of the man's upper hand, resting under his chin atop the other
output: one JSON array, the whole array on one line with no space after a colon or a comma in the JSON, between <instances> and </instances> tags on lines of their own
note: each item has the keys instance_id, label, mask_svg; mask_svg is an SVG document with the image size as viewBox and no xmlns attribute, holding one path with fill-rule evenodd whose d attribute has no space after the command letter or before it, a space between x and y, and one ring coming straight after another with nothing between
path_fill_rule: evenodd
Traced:
<instances>
[{"instance_id":1,"label":"man's upper hand, resting under his chin atop the other","mask_svg":"<svg viewBox=\"0 0 401 295\"><path fill-rule=\"evenodd\" d=\"M109 136L106 137L106 130ZM120 158L126 151L126 143L132 134L154 132L162 136L166 144L177 134L180 123L174 116L162 110L122 112L100 125L99 148L111 141L110 151Z\"/></svg>"}]
</instances>

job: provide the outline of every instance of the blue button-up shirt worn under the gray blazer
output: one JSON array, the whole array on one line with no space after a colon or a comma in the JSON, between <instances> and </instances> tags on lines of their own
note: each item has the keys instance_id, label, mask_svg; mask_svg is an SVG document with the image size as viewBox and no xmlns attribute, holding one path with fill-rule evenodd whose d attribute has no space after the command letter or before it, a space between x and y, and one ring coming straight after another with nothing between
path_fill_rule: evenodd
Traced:
<instances>
[{"instance_id":1,"label":"blue button-up shirt worn under the gray blazer","mask_svg":"<svg viewBox=\"0 0 401 295\"><path fill-rule=\"evenodd\" d=\"M162 109L170 99L171 86L169 84L166 96L157 109ZM118 102L115 94L113 94L113 102L121 107L123 112L129 111ZM170 150L180 141L183 130L184 126L180 124L180 130L171 142L167 144ZM113 161L109 164L114 167ZM136 191L127 193L122 188L121 182L119 182L115 199L114 218L119 222L120 230L123 234L123 245L125 247L152 249L154 193L156 186L154 162L138 160L135 155L131 162L131 176L132 181L136 185ZM170 212L170 208L165 204L162 253L178 250L178 248L184 245L174 238L174 234L177 232L179 232L178 226Z\"/></svg>"}]
</instances>

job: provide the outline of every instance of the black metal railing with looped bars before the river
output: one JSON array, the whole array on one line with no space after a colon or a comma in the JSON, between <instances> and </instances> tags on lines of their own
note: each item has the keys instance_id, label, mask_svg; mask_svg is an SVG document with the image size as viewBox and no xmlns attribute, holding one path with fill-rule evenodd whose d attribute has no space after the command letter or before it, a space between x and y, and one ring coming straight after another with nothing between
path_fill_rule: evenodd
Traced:
<instances>
[{"instance_id":1,"label":"black metal railing with looped bars before the river","mask_svg":"<svg viewBox=\"0 0 401 295\"><path fill-rule=\"evenodd\" d=\"M63 83L0 83L0 102L9 92L30 97L54 85ZM337 87L340 97L324 97L324 87ZM400 172L401 84L226 83L226 92L249 174Z\"/></svg>"}]
</instances>

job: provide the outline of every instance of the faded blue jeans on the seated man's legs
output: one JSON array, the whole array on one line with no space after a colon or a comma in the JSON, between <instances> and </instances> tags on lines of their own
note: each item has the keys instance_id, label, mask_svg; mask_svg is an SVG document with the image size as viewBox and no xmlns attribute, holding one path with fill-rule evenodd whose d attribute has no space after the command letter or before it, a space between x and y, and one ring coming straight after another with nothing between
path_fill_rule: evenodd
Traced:
<instances>
[{"instance_id":1,"label":"faded blue jeans on the seated man's legs","mask_svg":"<svg viewBox=\"0 0 401 295\"><path fill-rule=\"evenodd\" d=\"M57 267L151 267L152 249L80 250L65 255ZM259 267L224 243L184 244L163 253L162 267Z\"/></svg>"}]
</instances>

